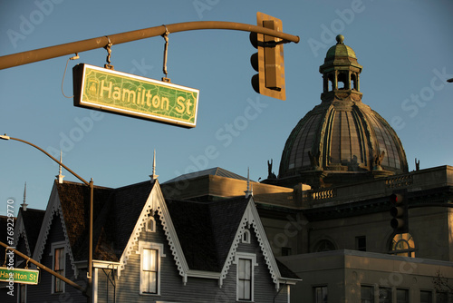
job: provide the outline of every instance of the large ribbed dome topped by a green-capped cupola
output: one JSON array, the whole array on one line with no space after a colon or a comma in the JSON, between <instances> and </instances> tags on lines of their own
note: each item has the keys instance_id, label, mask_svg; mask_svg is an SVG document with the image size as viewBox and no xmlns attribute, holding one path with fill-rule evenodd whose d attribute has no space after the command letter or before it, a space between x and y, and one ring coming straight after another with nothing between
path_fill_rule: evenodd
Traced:
<instances>
[{"instance_id":1,"label":"large ribbed dome topped by a green-capped cupola","mask_svg":"<svg viewBox=\"0 0 453 303\"><path fill-rule=\"evenodd\" d=\"M361 102L362 66L344 37L324 64L322 103L294 127L282 153L277 181L314 188L364 181L408 171L406 154L390 124Z\"/></svg>"}]
</instances>

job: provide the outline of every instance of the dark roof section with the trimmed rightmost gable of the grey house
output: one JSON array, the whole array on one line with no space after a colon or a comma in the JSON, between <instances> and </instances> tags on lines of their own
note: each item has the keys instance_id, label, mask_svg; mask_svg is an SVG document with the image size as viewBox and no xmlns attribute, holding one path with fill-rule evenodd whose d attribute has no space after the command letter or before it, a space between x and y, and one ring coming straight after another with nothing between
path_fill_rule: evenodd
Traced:
<instances>
[{"instance_id":1,"label":"dark roof section with the trimmed rightmost gable of the grey house","mask_svg":"<svg viewBox=\"0 0 453 303\"><path fill-rule=\"evenodd\" d=\"M188 269L183 275L203 276L202 272L219 274L219 284L226 278L246 226L255 231L267 269L276 288L299 278L274 258L253 198L245 196L219 201L166 200ZM206 277L209 275L206 274ZM214 277L214 275L211 275Z\"/></svg>"}]
</instances>

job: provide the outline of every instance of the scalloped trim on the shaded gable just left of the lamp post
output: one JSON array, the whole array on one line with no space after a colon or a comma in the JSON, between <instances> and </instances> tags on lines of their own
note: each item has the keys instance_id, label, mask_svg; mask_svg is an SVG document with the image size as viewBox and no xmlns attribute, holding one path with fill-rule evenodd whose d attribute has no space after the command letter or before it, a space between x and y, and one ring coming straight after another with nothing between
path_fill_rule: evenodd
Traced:
<instances>
[{"instance_id":1,"label":"scalloped trim on the shaded gable just left of the lamp post","mask_svg":"<svg viewBox=\"0 0 453 303\"><path fill-rule=\"evenodd\" d=\"M53 184L51 197L49 198L49 202L47 203L47 209L45 210L45 214L44 214L43 225L41 225L41 230L39 231L39 236L36 241L36 243L40 243L40 244L36 244L36 247L34 249L33 259L35 259L39 262L41 260L41 258L43 257L45 244L47 243L47 237L49 236L49 232L52 228L53 216L56 214L60 216L60 220L62 222L62 227L63 227L65 248L67 249L69 258L71 260L71 267L74 272L74 275L75 275L75 277L77 277L78 270L74 263L74 257L72 254L71 244L69 241L68 232L66 230L66 223L64 221L62 204L60 203L58 189L55 184Z\"/></svg>"}]
</instances>

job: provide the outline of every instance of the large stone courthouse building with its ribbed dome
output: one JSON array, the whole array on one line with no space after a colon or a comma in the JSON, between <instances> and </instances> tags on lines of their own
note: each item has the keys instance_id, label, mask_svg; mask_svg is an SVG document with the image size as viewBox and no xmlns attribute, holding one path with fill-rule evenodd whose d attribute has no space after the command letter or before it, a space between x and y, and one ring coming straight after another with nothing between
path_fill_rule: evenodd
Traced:
<instances>
[{"instance_id":1,"label":"large stone courthouse building with its ribbed dome","mask_svg":"<svg viewBox=\"0 0 453 303\"><path fill-rule=\"evenodd\" d=\"M275 256L302 282L295 302L451 302L453 167L408 171L397 133L363 103L361 64L337 36L320 66L321 103L295 125L278 175L251 188ZM246 178L199 171L162 184L164 196L239 196ZM390 226L404 192L408 229Z\"/></svg>"}]
</instances>

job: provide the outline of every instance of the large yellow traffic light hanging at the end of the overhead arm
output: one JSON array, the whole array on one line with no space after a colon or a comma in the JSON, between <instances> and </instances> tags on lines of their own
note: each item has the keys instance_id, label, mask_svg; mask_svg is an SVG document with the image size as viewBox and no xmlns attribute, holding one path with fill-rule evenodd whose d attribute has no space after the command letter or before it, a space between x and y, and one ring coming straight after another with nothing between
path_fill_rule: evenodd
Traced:
<instances>
[{"instance_id":1,"label":"large yellow traffic light hanging at the end of the overhead arm","mask_svg":"<svg viewBox=\"0 0 453 303\"><path fill-rule=\"evenodd\" d=\"M258 26L282 32L282 20L271 15L256 13ZM282 39L271 35L250 33L250 42L258 53L252 54L250 63L257 74L252 77L256 93L280 100L286 99L284 89L284 49Z\"/></svg>"}]
</instances>

